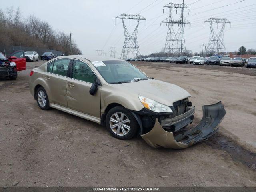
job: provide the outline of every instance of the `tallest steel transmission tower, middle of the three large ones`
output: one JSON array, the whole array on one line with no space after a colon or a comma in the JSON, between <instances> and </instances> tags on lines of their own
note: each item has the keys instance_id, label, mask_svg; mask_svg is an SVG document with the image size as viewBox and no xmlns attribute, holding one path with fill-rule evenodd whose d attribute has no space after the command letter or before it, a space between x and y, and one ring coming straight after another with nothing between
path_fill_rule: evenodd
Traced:
<instances>
[{"instance_id":1,"label":"tallest steel transmission tower, middle of the three large ones","mask_svg":"<svg viewBox=\"0 0 256 192\"><path fill-rule=\"evenodd\" d=\"M189 9L189 7L184 4L184 0L182 4L176 4L170 2L169 4L165 5L164 8L169 8L169 17L166 18L165 20L161 21L162 23L168 24L168 31L167 31L167 36L166 36L166 41L165 41L165 46L164 46L164 52L168 53L169 56L173 56L174 54L176 55L182 55L186 51L186 46L185 46L185 37L184 37L184 26L186 24L190 25L190 22L184 18L184 9ZM163 13L164 13L164 8L163 8ZM172 8L176 9L176 14L177 10L181 10L180 18L178 20L174 20L172 16ZM189 12L188 12L189 13ZM179 28L178 31L174 30L173 26L174 24L178 24Z\"/></svg>"}]
</instances>

